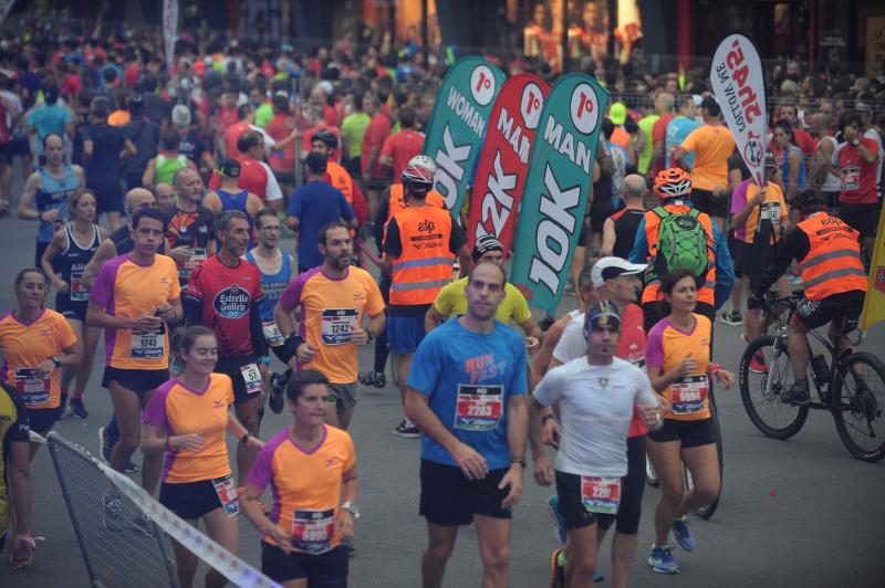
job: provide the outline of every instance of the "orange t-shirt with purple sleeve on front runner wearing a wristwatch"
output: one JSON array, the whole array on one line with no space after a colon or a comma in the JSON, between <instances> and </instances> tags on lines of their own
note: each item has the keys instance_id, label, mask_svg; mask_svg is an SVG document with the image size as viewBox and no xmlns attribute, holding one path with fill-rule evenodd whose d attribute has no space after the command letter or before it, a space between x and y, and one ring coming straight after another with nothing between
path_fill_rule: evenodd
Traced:
<instances>
[{"instance_id":1,"label":"orange t-shirt with purple sleeve on front runner wearing a wristwatch","mask_svg":"<svg viewBox=\"0 0 885 588\"><path fill-rule=\"evenodd\" d=\"M343 475L356 465L351 435L323 426L324 438L312 451L292 440L287 427L258 454L249 483L261 491L273 486L270 519L292 535L292 548L321 554L341 544L335 517L341 503ZM263 540L277 545L266 535Z\"/></svg>"}]
</instances>

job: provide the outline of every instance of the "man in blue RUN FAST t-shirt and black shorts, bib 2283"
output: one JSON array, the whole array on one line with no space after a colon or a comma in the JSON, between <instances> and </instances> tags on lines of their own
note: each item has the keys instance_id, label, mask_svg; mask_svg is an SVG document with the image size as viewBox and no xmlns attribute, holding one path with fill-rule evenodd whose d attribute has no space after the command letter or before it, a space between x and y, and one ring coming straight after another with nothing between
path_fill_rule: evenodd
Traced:
<instances>
[{"instance_id":1,"label":"man in blue RUN FAST t-shirt and black shorts, bib 2283","mask_svg":"<svg viewBox=\"0 0 885 588\"><path fill-rule=\"evenodd\" d=\"M473 267L467 313L427 334L408 372L406 416L424 433L425 588L442 585L458 526L471 522L482 586L508 586L511 508L522 495L525 469L528 366L522 338L494 319L504 284L497 263Z\"/></svg>"}]
</instances>

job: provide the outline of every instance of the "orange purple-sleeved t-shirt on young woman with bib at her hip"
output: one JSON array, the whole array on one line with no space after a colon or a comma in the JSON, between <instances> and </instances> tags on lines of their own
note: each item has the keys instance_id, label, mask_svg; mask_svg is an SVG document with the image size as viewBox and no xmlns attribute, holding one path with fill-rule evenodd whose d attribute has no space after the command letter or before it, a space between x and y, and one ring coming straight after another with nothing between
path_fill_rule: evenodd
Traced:
<instances>
[{"instance_id":1,"label":"orange purple-sleeved t-shirt on young woman with bib at her hip","mask_svg":"<svg viewBox=\"0 0 885 588\"><path fill-rule=\"evenodd\" d=\"M180 484L230 475L225 433L232 403L233 385L225 374L210 374L202 390L188 388L178 378L157 388L145 407L145 423L162 427L167 435L202 433L204 440L198 450L166 452L164 482Z\"/></svg>"}]
</instances>

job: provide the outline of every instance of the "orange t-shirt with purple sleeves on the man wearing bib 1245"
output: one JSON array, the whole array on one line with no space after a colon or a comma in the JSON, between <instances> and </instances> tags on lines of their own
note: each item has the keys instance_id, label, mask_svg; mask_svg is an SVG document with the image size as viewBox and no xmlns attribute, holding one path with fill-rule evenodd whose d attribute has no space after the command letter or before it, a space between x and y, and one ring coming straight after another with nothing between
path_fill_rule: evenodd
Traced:
<instances>
[{"instance_id":1,"label":"orange t-shirt with purple sleeves on the man wearing bib 1245","mask_svg":"<svg viewBox=\"0 0 885 588\"><path fill-rule=\"evenodd\" d=\"M135 318L177 301L181 296L178 267L166 255L156 254L150 265L138 265L118 255L98 270L90 301L112 316ZM104 333L105 365L124 369L166 369L169 366L169 326L160 333L135 333L107 328Z\"/></svg>"}]
</instances>

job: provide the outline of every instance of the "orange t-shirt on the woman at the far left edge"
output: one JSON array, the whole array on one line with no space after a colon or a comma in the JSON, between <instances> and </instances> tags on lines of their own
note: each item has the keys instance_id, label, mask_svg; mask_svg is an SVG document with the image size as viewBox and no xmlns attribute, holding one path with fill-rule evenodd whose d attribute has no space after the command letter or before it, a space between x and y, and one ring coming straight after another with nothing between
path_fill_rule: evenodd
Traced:
<instances>
[{"instance_id":1,"label":"orange t-shirt on the woman at the far left edge","mask_svg":"<svg viewBox=\"0 0 885 588\"><path fill-rule=\"evenodd\" d=\"M37 374L37 367L54 355L61 356L62 349L75 343L71 325L51 308L43 308L30 324L22 323L13 313L0 316L2 377L19 391L29 410L59 407L59 370L53 369L50 377L43 379Z\"/></svg>"}]
</instances>

